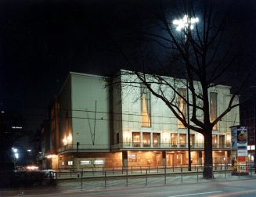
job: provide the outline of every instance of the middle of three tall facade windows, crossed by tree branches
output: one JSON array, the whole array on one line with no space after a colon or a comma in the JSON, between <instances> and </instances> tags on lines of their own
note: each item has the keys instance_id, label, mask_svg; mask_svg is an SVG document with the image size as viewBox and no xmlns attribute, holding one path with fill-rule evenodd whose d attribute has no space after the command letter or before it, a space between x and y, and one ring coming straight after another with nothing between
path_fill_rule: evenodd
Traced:
<instances>
[{"instance_id":1,"label":"middle of three tall facade windows, crossed by tree branches","mask_svg":"<svg viewBox=\"0 0 256 197\"><path fill-rule=\"evenodd\" d=\"M186 89L185 88L178 88L178 109L181 111L179 116L185 116L187 119L187 106L186 106ZM184 124L180 120L178 120L178 128L185 128Z\"/></svg>"}]
</instances>

